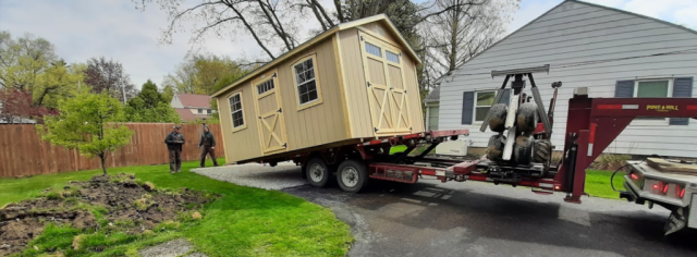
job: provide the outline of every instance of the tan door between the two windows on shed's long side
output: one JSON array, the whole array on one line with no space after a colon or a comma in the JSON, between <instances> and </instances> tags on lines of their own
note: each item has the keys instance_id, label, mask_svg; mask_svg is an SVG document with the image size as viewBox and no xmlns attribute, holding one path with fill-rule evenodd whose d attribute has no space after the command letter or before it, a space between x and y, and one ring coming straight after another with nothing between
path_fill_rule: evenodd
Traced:
<instances>
[{"instance_id":1,"label":"tan door between the two windows on shed's long side","mask_svg":"<svg viewBox=\"0 0 697 257\"><path fill-rule=\"evenodd\" d=\"M252 84L254 101L257 111L257 127L259 128L259 142L261 151L270 154L285 150L285 122L281 96L276 73L267 78L261 78Z\"/></svg>"}]
</instances>

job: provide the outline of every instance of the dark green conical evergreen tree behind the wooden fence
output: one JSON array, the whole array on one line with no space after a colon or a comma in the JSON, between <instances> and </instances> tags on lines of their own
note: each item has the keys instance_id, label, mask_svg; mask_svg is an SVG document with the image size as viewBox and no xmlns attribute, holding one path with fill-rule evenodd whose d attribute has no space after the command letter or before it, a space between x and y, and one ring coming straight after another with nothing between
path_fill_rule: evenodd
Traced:
<instances>
[{"instance_id":1,"label":"dark green conical evergreen tree behind the wooden fence","mask_svg":"<svg viewBox=\"0 0 697 257\"><path fill-rule=\"evenodd\" d=\"M150 79L143 84L138 96L129 100L125 113L126 120L131 122L181 122L179 113Z\"/></svg>"}]
</instances>

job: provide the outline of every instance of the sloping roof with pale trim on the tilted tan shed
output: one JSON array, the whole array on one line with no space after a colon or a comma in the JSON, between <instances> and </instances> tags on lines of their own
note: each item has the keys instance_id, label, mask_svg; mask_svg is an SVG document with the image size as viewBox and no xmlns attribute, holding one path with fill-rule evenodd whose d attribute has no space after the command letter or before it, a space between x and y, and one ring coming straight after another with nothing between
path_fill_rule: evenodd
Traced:
<instances>
[{"instance_id":1,"label":"sloping roof with pale trim on the tilted tan shed","mask_svg":"<svg viewBox=\"0 0 697 257\"><path fill-rule=\"evenodd\" d=\"M292 57L295 53L298 53L311 46L317 45L318 42L320 42L321 40L331 37L334 33L341 32L341 30L345 30L348 28L353 28L353 27L357 27L364 24L368 24L371 22L383 22L386 25L388 25L388 27L392 30L392 33L396 34L399 44L401 44L403 47L405 47L407 54L409 54L409 57L414 58L414 60L416 60L417 63L421 63L421 60L418 58L418 56L416 56L416 52L414 51L414 49L412 49L412 47L409 46L409 44L406 41L406 39L404 39L404 37L402 36L402 34L396 29L396 27L394 26L394 24L392 23L392 21L390 21L390 19L384 15L384 14L378 14L378 15L374 15L374 16L369 16L369 17L364 17L364 19L359 19L356 21L351 21L351 22L346 22L346 23L341 23L337 26L333 26L332 28L317 35L314 38L310 38L309 40L303 42L303 45L293 48L293 50L290 50L283 54L281 54L280 57L271 60L270 62L267 62L266 64L261 65L260 68L254 70L253 72L250 72L249 74L241 77L240 79L233 82L232 84L221 88L220 90L213 93L211 95L211 97L217 97L219 95L221 95L222 93L229 90L230 88L233 88L242 83L245 83L247 81L249 81L252 77L255 77L257 75L259 75L260 73L267 71L268 69L272 68L273 65L281 63L282 61L285 61L286 59L289 59L290 57Z\"/></svg>"}]
</instances>

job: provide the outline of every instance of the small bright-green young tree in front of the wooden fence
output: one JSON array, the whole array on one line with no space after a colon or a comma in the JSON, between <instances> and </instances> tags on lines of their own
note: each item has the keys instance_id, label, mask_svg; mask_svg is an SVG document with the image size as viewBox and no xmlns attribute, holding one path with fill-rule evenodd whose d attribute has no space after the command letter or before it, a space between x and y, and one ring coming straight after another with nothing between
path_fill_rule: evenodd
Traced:
<instances>
[{"instance_id":1,"label":"small bright-green young tree in front of the wooden fence","mask_svg":"<svg viewBox=\"0 0 697 257\"><path fill-rule=\"evenodd\" d=\"M129 144L134 134L121 123L125 120L121 102L106 93L81 94L62 100L59 111L58 117L48 117L45 125L37 126L41 138L78 149L88 158L99 157L101 170L107 174L108 154Z\"/></svg>"}]
</instances>

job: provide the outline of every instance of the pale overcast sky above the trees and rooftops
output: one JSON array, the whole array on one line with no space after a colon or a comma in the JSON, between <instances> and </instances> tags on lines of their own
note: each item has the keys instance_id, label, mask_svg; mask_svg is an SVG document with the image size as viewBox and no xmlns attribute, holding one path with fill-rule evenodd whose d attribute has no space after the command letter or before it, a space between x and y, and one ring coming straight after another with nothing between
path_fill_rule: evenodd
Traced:
<instances>
[{"instance_id":1,"label":"pale overcast sky above the trees and rooftops","mask_svg":"<svg viewBox=\"0 0 697 257\"><path fill-rule=\"evenodd\" d=\"M325 0L327 1L327 0ZM538 17L563 0L523 0L509 32ZM697 0L588 0L697 28ZM121 62L131 81L140 87L148 78L160 84L192 46L189 34L180 33L171 45L159 44L167 15L150 4L143 12L131 0L0 0L0 30L13 37L26 33L56 45L69 63L103 56ZM266 58L248 37L235 41L208 39L198 46L235 59Z\"/></svg>"}]
</instances>

